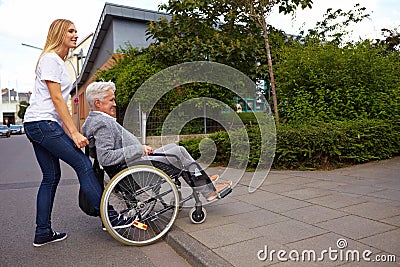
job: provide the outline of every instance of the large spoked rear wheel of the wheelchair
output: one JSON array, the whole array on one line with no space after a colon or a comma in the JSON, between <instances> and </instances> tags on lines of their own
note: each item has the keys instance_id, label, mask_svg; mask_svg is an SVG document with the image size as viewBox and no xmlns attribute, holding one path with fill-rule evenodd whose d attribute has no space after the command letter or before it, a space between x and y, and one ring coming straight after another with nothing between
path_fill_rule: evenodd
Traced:
<instances>
[{"instance_id":1,"label":"large spoked rear wheel of the wheelchair","mask_svg":"<svg viewBox=\"0 0 400 267\"><path fill-rule=\"evenodd\" d=\"M156 242L172 227L179 211L179 193L170 177L152 166L133 166L116 174L104 189L101 219L117 241L134 246ZM110 210L131 225L116 229Z\"/></svg>"}]
</instances>

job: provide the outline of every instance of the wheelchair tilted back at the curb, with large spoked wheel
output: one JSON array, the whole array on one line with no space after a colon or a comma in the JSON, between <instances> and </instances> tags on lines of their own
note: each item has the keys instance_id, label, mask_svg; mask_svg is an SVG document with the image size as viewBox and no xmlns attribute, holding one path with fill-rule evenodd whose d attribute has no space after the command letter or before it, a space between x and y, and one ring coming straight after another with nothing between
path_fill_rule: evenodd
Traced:
<instances>
[{"instance_id":1,"label":"wheelchair tilted back at the curb, with large spoked wheel","mask_svg":"<svg viewBox=\"0 0 400 267\"><path fill-rule=\"evenodd\" d=\"M200 224L206 220L207 212L194 187L194 174L182 165L176 155L156 153L151 156L174 157L180 167L156 160L140 160L133 166L116 169L103 166L110 181L105 185L101 199L101 219L108 233L125 245L144 246L161 239L189 200L195 203L189 212L191 222ZM192 192L187 196L182 194L180 178L191 187ZM217 192L217 198L223 198L231 191L232 188L227 187ZM113 227L110 209L125 219L132 219L132 225L120 229Z\"/></svg>"}]
</instances>

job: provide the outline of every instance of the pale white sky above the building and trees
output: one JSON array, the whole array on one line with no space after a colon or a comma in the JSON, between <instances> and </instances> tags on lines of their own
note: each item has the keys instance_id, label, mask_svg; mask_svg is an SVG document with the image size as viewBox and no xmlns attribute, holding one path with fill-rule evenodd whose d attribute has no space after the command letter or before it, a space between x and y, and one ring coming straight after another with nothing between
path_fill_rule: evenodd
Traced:
<instances>
[{"instance_id":1,"label":"pale white sky above the building and trees","mask_svg":"<svg viewBox=\"0 0 400 267\"><path fill-rule=\"evenodd\" d=\"M167 0L0 0L0 87L19 92L32 91L34 69L40 50L22 43L43 47L48 28L57 18L74 22L80 40L96 30L105 2L158 10ZM289 34L313 28L327 8L348 11L356 3L367 8L370 19L353 29L356 39L381 37L380 29L400 30L399 0L314 0L312 9L297 11L295 18L274 11L267 22ZM79 42L79 39L78 39Z\"/></svg>"}]
</instances>

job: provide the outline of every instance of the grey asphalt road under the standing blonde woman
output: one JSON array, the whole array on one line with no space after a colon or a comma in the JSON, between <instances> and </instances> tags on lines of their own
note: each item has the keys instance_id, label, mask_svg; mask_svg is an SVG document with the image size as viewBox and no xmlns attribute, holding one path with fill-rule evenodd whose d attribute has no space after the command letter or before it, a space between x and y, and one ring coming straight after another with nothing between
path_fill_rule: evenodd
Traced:
<instances>
[{"instance_id":1,"label":"grey asphalt road under the standing blonde woman","mask_svg":"<svg viewBox=\"0 0 400 267\"><path fill-rule=\"evenodd\" d=\"M190 266L164 241L125 246L78 207L78 179L62 162L52 225L65 241L35 248L36 193L41 172L25 135L0 139L0 266Z\"/></svg>"}]
</instances>

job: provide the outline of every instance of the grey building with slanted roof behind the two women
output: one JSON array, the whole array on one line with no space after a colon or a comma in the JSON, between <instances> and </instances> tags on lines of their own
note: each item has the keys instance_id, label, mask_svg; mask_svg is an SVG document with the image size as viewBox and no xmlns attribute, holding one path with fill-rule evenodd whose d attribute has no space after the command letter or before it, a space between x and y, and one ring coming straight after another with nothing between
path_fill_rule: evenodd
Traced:
<instances>
[{"instance_id":1,"label":"grey building with slanted roof behind the two women","mask_svg":"<svg viewBox=\"0 0 400 267\"><path fill-rule=\"evenodd\" d=\"M71 60L75 62L74 67L81 70L74 84L77 93L75 90L71 93L72 115L77 122L79 121L79 129L90 110L85 99L85 90L94 81L95 74L99 70L109 68L113 56L126 43L138 48L147 47L152 42L146 37L148 23L158 21L161 17L169 16L157 11L105 3L96 31L89 38L90 45L86 53L84 47L78 46L73 53L77 58ZM79 65L82 61L78 57L84 58L82 66ZM75 104L77 99L79 105Z\"/></svg>"}]
</instances>

